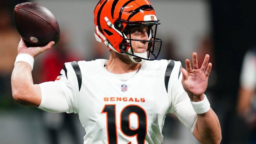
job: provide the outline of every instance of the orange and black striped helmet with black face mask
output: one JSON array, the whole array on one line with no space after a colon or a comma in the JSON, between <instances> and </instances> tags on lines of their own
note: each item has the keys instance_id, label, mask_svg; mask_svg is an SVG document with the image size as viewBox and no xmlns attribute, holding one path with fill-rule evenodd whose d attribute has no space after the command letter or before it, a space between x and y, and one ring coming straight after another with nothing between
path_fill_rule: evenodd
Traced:
<instances>
[{"instance_id":1,"label":"orange and black striped helmet with black face mask","mask_svg":"<svg viewBox=\"0 0 256 144\"><path fill-rule=\"evenodd\" d=\"M156 17L154 8L148 0L100 0L94 10L95 37L98 42L104 42L109 49L120 54L129 55L144 60L157 59L162 40L156 38L157 25L159 20ZM135 25L148 25L149 40L131 39L130 27ZM155 30L153 30L153 28ZM127 32L130 38L127 38ZM147 54L134 53L131 41L148 42ZM155 54L155 43L159 46ZM134 61L136 62L136 61Z\"/></svg>"}]
</instances>

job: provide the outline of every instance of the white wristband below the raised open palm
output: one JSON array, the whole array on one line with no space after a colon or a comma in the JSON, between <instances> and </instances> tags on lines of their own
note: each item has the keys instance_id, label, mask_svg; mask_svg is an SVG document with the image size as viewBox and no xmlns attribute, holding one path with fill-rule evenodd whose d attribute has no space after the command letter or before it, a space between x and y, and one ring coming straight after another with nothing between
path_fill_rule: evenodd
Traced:
<instances>
[{"instance_id":1,"label":"white wristband below the raised open palm","mask_svg":"<svg viewBox=\"0 0 256 144\"><path fill-rule=\"evenodd\" d=\"M192 102L191 100L190 102L197 114L204 114L210 110L210 102L208 101L206 95L204 95L204 99L200 102Z\"/></svg>"}]
</instances>

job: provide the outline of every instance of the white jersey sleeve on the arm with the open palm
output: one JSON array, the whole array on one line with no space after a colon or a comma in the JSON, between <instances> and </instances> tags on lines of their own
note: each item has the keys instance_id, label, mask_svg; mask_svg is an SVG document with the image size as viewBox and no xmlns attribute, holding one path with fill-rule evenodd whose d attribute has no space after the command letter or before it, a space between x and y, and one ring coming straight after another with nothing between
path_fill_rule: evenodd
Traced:
<instances>
[{"instance_id":1,"label":"white jersey sleeve on the arm with the open palm","mask_svg":"<svg viewBox=\"0 0 256 144\"><path fill-rule=\"evenodd\" d=\"M187 129L193 132L197 121L197 114L194 111L190 99L181 83L181 62L173 62L173 69L170 74L167 92L170 100L169 110L170 113L174 113L178 117Z\"/></svg>"}]
</instances>

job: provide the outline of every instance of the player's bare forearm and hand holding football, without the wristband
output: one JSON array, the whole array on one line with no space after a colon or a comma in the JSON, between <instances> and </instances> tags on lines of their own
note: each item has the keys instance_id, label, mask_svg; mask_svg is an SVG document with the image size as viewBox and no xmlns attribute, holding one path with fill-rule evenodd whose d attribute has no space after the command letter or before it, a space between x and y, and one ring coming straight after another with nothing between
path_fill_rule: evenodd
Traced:
<instances>
[{"instance_id":1,"label":"player's bare forearm and hand holding football, without the wristband","mask_svg":"<svg viewBox=\"0 0 256 144\"><path fill-rule=\"evenodd\" d=\"M42 47L27 47L24 41L21 39L18 45L18 54L30 54L32 57L37 56L51 49L54 42L49 42ZM13 99L26 106L38 107L41 103L41 89L39 85L33 83L31 66L26 62L16 63L12 76L12 96Z\"/></svg>"}]
</instances>

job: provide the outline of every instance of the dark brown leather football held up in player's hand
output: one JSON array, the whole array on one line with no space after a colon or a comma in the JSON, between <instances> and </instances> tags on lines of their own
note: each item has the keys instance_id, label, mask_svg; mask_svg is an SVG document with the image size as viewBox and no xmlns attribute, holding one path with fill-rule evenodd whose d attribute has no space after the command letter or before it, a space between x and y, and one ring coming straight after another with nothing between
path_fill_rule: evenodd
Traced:
<instances>
[{"instance_id":1,"label":"dark brown leather football held up in player's hand","mask_svg":"<svg viewBox=\"0 0 256 144\"><path fill-rule=\"evenodd\" d=\"M13 11L13 19L28 47L43 46L50 41L58 43L59 25L46 7L31 2L18 4Z\"/></svg>"}]
</instances>

